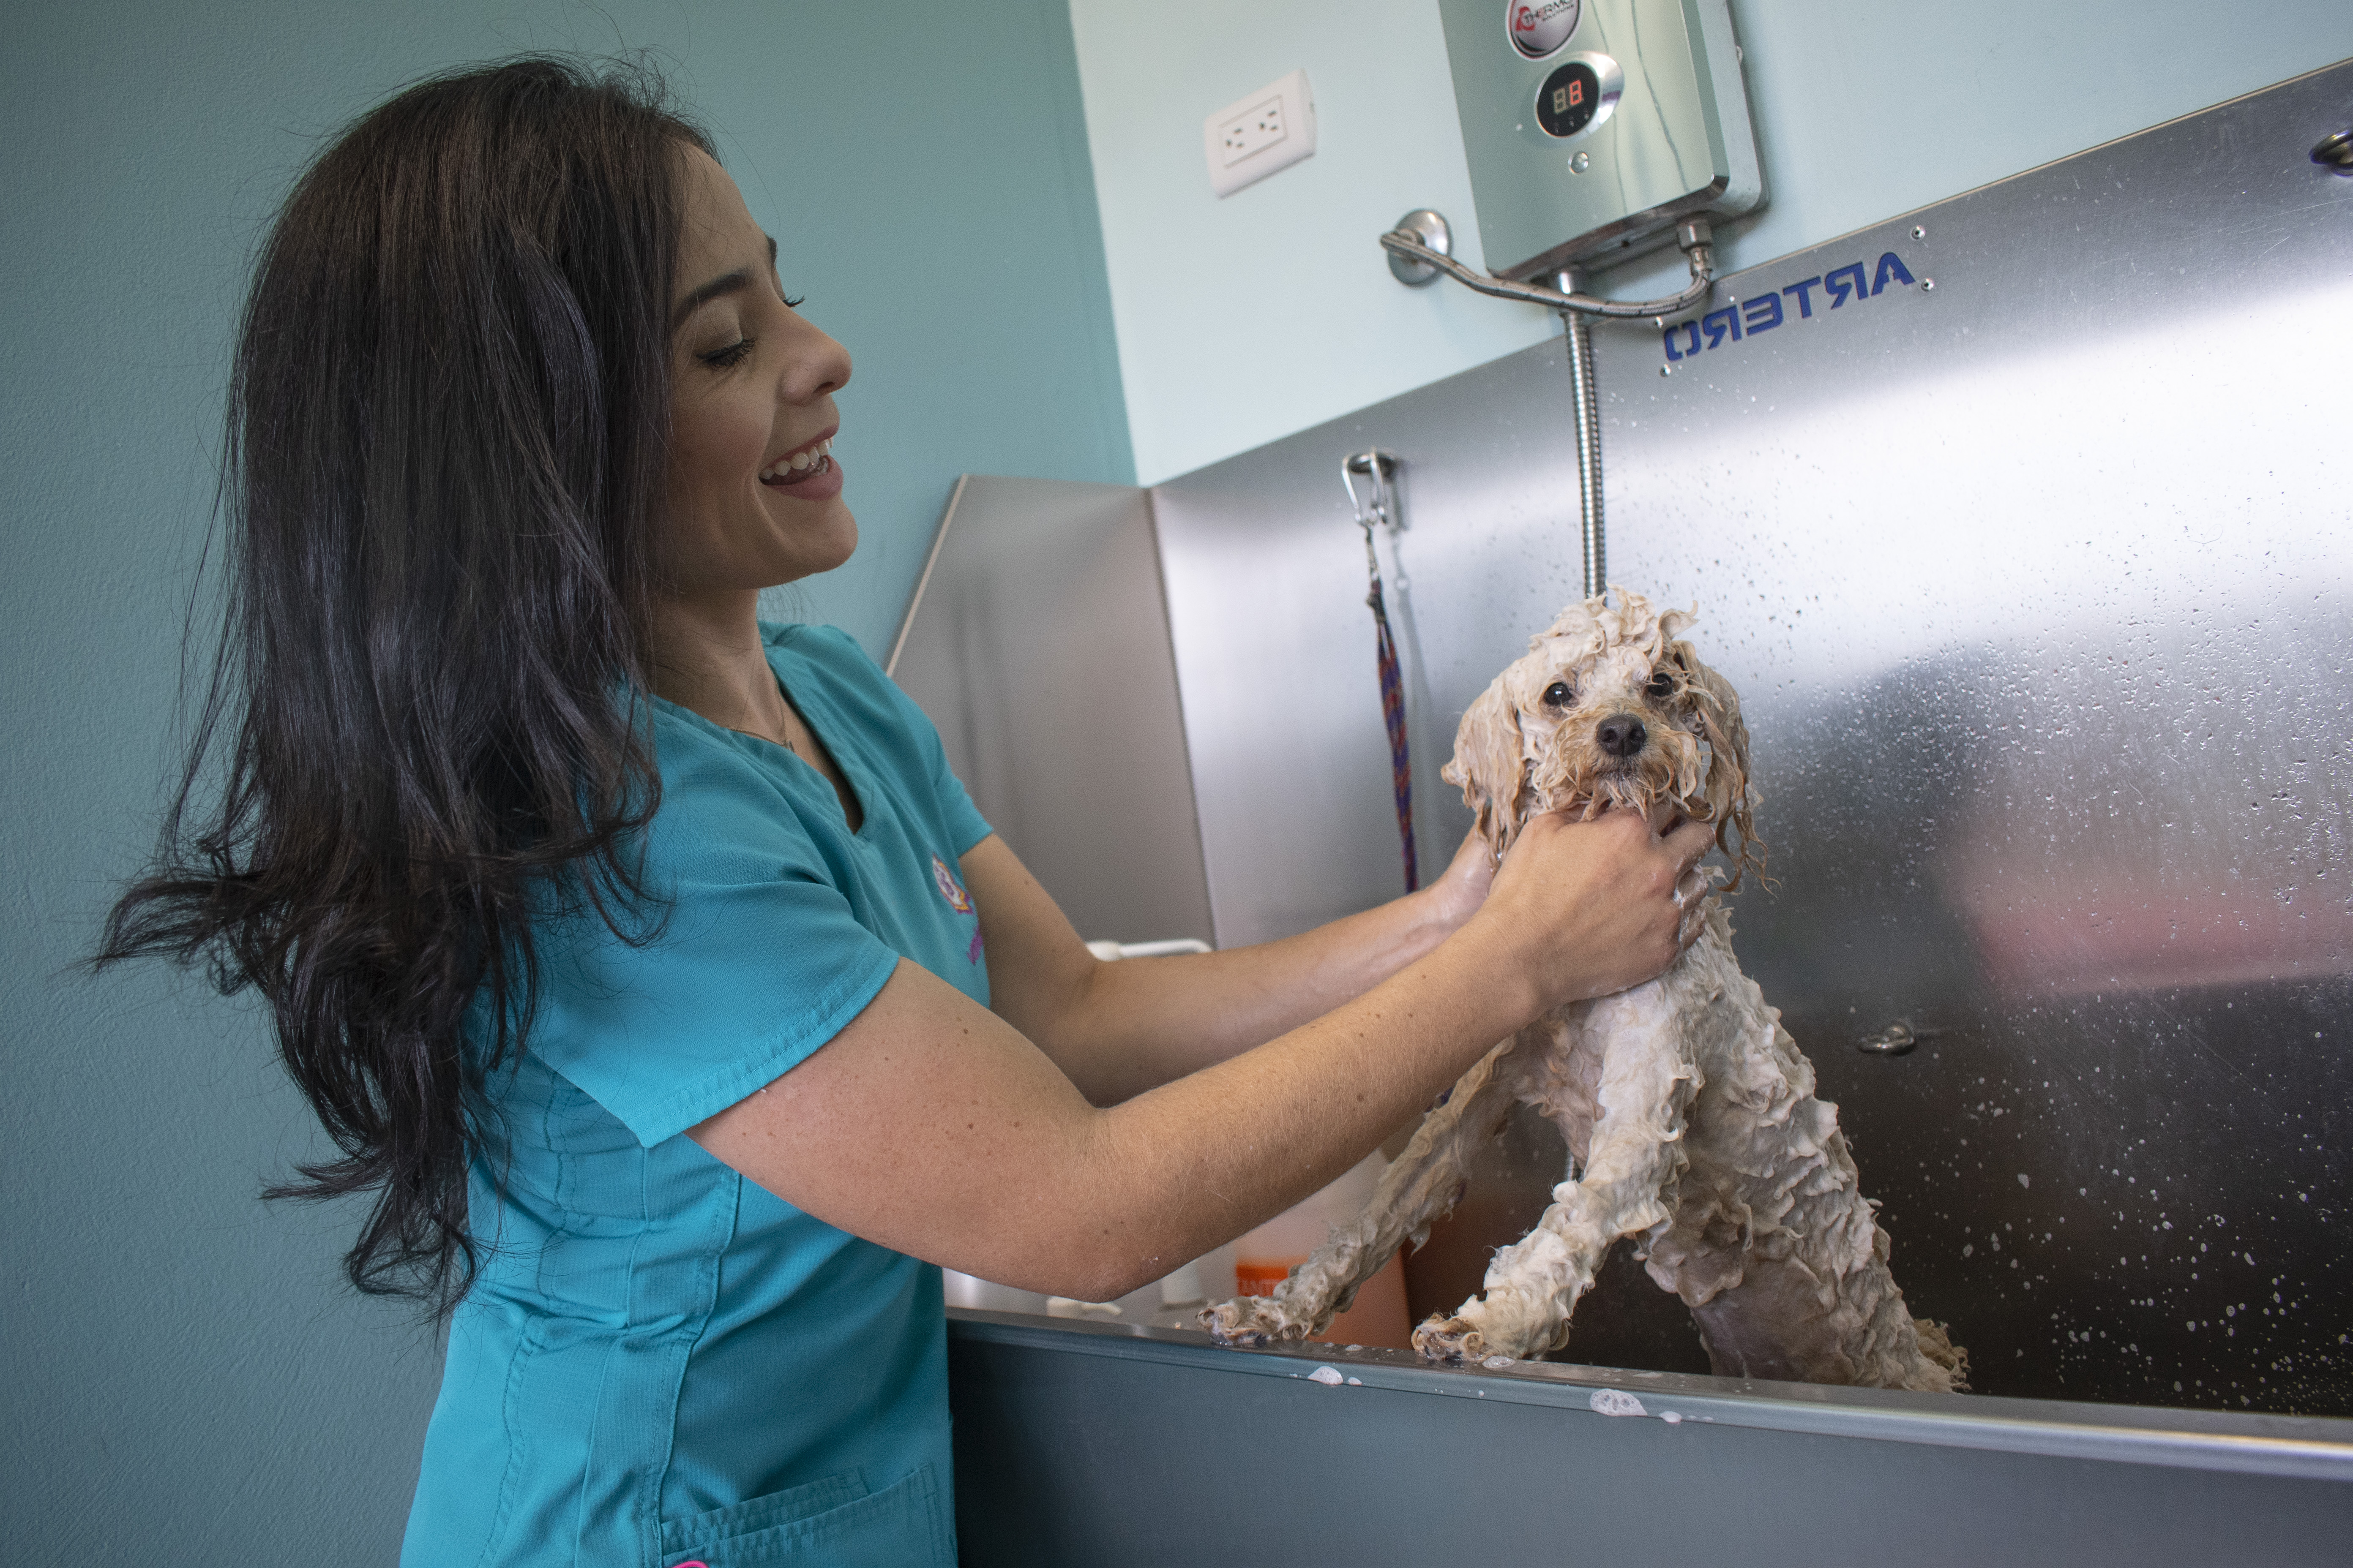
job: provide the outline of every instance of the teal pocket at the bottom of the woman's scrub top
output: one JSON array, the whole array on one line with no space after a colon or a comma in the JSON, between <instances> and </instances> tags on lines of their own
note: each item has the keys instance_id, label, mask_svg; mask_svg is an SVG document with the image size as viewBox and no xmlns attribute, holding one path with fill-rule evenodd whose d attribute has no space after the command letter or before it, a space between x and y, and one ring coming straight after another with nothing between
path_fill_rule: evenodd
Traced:
<instances>
[{"instance_id":1,"label":"teal pocket at the bottom of the woman's scrub top","mask_svg":"<svg viewBox=\"0 0 2353 1568\"><path fill-rule=\"evenodd\" d=\"M932 1465L866 1490L859 1472L661 1526L661 1568L955 1568Z\"/></svg>"}]
</instances>

